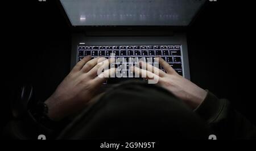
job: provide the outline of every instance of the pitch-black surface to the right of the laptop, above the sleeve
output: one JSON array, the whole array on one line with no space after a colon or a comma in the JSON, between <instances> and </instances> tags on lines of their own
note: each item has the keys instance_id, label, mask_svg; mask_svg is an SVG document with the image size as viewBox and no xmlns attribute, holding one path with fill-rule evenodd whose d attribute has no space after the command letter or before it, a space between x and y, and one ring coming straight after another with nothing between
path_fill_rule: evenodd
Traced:
<instances>
[{"instance_id":1,"label":"pitch-black surface to the right of the laptop, above the sleeve","mask_svg":"<svg viewBox=\"0 0 256 151\"><path fill-rule=\"evenodd\" d=\"M254 8L241 1L207 4L188 32L191 79L255 124Z\"/></svg>"}]
</instances>

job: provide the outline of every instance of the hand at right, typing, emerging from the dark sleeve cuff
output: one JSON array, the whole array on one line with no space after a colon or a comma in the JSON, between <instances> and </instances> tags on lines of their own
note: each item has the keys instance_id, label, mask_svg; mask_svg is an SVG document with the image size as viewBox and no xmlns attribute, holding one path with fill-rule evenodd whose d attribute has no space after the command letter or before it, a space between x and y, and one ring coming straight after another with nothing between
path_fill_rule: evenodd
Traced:
<instances>
[{"instance_id":1,"label":"hand at right, typing, emerging from the dark sleeve cuff","mask_svg":"<svg viewBox=\"0 0 256 151\"><path fill-rule=\"evenodd\" d=\"M132 67L135 74L144 75L147 79L156 79L158 84L163 88L166 88L176 97L183 100L189 107L196 109L201 102L204 101L207 96L207 91L193 84L191 81L185 79L183 76L177 74L177 72L164 61L163 58L155 58L159 61L159 64L166 70L163 72L146 62L140 62L141 68Z\"/></svg>"}]
</instances>

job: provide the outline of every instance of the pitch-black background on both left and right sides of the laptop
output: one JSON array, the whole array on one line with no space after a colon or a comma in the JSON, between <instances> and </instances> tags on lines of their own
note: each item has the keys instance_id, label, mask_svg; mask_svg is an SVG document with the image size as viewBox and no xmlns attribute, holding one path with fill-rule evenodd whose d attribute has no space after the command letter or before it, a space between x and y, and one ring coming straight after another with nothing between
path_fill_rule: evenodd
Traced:
<instances>
[{"instance_id":1,"label":"pitch-black background on both left and right sides of the laptop","mask_svg":"<svg viewBox=\"0 0 256 151\"><path fill-rule=\"evenodd\" d=\"M228 98L256 123L253 9L244 1L208 2L188 28L191 81ZM55 1L3 3L1 127L23 84L46 100L70 70L71 29Z\"/></svg>"}]
</instances>

